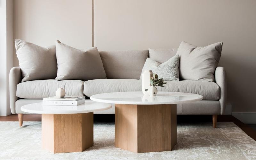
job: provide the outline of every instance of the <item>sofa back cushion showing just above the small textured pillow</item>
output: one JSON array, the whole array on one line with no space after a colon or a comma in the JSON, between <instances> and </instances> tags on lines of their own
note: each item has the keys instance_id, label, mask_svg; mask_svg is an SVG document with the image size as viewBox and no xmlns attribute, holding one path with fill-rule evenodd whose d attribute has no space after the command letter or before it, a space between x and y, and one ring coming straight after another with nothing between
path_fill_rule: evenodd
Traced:
<instances>
[{"instance_id":1,"label":"sofa back cushion showing just above the small textured pillow","mask_svg":"<svg viewBox=\"0 0 256 160\"><path fill-rule=\"evenodd\" d=\"M173 48L173 49L151 49L151 48L148 48L149 58L151 60L157 61L158 63L164 63L167 60L169 60L170 58L172 58L173 56L175 56L177 50L178 50L177 48Z\"/></svg>"}]
</instances>

